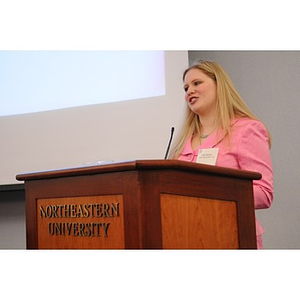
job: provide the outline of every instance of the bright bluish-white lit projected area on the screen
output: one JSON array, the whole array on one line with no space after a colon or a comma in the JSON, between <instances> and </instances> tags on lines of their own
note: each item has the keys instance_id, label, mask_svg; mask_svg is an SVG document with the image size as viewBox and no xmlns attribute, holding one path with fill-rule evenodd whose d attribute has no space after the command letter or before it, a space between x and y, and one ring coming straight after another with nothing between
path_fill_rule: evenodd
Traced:
<instances>
[{"instance_id":1,"label":"bright bluish-white lit projected area on the screen","mask_svg":"<svg viewBox=\"0 0 300 300\"><path fill-rule=\"evenodd\" d=\"M163 51L1 51L0 116L165 94Z\"/></svg>"}]
</instances>

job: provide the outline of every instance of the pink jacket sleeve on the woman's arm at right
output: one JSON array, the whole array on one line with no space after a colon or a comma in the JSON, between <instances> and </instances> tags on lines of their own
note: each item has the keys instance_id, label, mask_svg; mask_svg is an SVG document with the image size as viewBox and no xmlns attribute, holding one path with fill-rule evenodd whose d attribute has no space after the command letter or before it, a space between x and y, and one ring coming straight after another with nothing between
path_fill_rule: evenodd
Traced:
<instances>
[{"instance_id":1,"label":"pink jacket sleeve on the woman's arm at right","mask_svg":"<svg viewBox=\"0 0 300 300\"><path fill-rule=\"evenodd\" d=\"M255 209L269 208L273 201L273 167L268 132L259 121L245 125L239 136L238 162L240 168L261 173L253 181Z\"/></svg>"}]
</instances>

